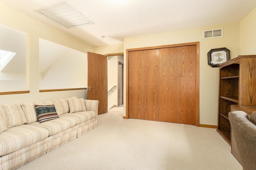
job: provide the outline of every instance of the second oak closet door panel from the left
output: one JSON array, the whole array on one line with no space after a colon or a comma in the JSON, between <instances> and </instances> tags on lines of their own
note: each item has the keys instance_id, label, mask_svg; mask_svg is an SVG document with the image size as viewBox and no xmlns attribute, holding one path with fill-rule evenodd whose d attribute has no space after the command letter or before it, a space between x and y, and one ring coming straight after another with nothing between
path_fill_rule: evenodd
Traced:
<instances>
[{"instance_id":1,"label":"second oak closet door panel from the left","mask_svg":"<svg viewBox=\"0 0 256 170\"><path fill-rule=\"evenodd\" d=\"M159 49L143 50L143 116L145 120L159 120Z\"/></svg>"}]
</instances>

